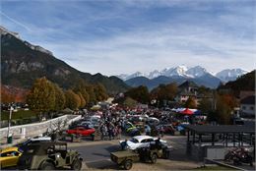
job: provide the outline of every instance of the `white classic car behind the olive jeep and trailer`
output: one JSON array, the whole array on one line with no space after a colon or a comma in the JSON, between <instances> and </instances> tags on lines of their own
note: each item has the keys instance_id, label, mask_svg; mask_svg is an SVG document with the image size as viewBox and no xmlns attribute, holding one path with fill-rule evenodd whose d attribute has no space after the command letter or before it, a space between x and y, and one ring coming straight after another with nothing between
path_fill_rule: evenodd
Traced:
<instances>
[{"instance_id":1,"label":"white classic car behind the olive jeep and trailer","mask_svg":"<svg viewBox=\"0 0 256 171\"><path fill-rule=\"evenodd\" d=\"M130 141L127 141L127 148L135 150L138 147L149 146L151 142L155 142L158 138L151 136L135 136ZM120 141L120 144L125 141ZM166 141L160 140L161 143L166 144Z\"/></svg>"}]
</instances>

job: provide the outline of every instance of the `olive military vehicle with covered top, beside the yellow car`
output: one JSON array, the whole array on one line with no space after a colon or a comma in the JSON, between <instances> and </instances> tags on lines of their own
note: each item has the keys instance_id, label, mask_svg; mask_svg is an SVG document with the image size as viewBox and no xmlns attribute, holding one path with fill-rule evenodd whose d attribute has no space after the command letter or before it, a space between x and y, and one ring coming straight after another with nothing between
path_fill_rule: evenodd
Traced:
<instances>
[{"instance_id":1,"label":"olive military vehicle with covered top, beside the yellow car","mask_svg":"<svg viewBox=\"0 0 256 171\"><path fill-rule=\"evenodd\" d=\"M38 142L28 145L18 161L20 170L54 170L69 166L81 170L82 158L76 150L68 150L66 142Z\"/></svg>"}]
</instances>

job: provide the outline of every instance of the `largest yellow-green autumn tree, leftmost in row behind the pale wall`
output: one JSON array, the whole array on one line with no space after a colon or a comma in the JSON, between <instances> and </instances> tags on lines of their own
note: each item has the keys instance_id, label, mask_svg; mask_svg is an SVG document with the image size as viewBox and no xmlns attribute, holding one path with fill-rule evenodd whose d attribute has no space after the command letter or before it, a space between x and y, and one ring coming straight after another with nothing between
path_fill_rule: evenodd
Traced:
<instances>
[{"instance_id":1,"label":"largest yellow-green autumn tree, leftmost in row behind the pale wall","mask_svg":"<svg viewBox=\"0 0 256 171\"><path fill-rule=\"evenodd\" d=\"M55 88L45 77L35 80L27 96L30 108L35 111L49 112L55 107Z\"/></svg>"}]
</instances>

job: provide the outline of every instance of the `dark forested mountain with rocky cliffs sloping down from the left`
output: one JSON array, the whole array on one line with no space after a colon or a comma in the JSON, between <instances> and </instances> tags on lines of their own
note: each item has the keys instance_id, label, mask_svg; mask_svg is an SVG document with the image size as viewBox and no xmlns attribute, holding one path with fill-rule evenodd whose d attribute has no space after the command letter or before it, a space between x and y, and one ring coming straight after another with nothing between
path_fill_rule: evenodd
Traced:
<instances>
[{"instance_id":1,"label":"dark forested mountain with rocky cliffs sloping down from the left","mask_svg":"<svg viewBox=\"0 0 256 171\"><path fill-rule=\"evenodd\" d=\"M100 83L109 93L125 91L129 86L117 77L80 72L53 53L20 38L19 33L0 28L2 85L30 88L35 79L46 77L64 88L70 88L80 80L89 84Z\"/></svg>"}]
</instances>

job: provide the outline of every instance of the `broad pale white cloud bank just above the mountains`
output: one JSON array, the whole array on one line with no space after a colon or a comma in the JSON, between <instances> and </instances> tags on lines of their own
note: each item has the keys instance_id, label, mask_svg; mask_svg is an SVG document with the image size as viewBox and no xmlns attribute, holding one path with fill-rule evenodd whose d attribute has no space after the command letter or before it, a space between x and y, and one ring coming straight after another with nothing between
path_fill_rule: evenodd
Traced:
<instances>
[{"instance_id":1,"label":"broad pale white cloud bank just above the mountains","mask_svg":"<svg viewBox=\"0 0 256 171\"><path fill-rule=\"evenodd\" d=\"M149 72L180 64L202 65L212 72L225 68L253 69L256 50L251 40L236 40L208 28L165 25L123 33L108 39L48 44L58 57L81 71L116 75ZM63 53L62 53L63 52Z\"/></svg>"}]
</instances>

